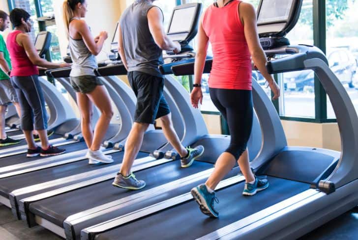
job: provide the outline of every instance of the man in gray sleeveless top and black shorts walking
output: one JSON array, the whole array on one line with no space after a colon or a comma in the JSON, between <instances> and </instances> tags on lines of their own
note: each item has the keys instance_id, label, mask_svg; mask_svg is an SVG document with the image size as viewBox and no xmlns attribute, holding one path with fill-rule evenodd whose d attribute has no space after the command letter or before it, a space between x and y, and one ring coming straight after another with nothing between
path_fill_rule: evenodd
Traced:
<instances>
[{"instance_id":1,"label":"man in gray sleeveless top and black shorts walking","mask_svg":"<svg viewBox=\"0 0 358 240\"><path fill-rule=\"evenodd\" d=\"M149 124L160 118L167 140L181 157L181 167L189 167L200 157L203 146L185 148L173 128L171 113L163 96L164 79L158 66L162 51L180 52L180 44L171 41L163 27L163 13L154 0L135 0L122 14L119 27L119 54L128 71L129 83L137 96L134 124L125 143L123 163L113 185L141 189L146 186L131 172Z\"/></svg>"}]
</instances>

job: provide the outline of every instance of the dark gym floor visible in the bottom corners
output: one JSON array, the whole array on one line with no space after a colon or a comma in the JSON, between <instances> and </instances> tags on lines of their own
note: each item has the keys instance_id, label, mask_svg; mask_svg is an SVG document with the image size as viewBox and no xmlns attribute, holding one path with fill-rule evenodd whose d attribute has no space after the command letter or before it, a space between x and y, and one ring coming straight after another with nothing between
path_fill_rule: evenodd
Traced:
<instances>
[{"instance_id":1,"label":"dark gym floor visible in the bottom corners","mask_svg":"<svg viewBox=\"0 0 358 240\"><path fill-rule=\"evenodd\" d=\"M329 221L299 240L357 240L358 208ZM62 240L52 232L37 226L28 228L17 221L11 211L0 204L1 240Z\"/></svg>"}]
</instances>

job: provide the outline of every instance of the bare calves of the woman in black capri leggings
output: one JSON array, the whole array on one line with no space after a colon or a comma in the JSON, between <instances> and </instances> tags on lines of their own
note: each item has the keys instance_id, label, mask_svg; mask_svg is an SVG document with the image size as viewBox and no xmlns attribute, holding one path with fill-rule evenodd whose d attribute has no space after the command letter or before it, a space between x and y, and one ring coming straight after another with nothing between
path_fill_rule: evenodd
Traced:
<instances>
[{"instance_id":1,"label":"bare calves of the woman in black capri leggings","mask_svg":"<svg viewBox=\"0 0 358 240\"><path fill-rule=\"evenodd\" d=\"M244 175L246 182L252 182L255 180L254 175L251 172L250 164L249 164L249 155L247 149L241 154L238 163L240 166L240 170ZM211 189L215 189L215 187L220 183L220 181L231 171L231 169L235 166L235 157L230 153L222 153L218 160L215 163L215 169L211 173L209 179L205 183L206 186Z\"/></svg>"}]
</instances>

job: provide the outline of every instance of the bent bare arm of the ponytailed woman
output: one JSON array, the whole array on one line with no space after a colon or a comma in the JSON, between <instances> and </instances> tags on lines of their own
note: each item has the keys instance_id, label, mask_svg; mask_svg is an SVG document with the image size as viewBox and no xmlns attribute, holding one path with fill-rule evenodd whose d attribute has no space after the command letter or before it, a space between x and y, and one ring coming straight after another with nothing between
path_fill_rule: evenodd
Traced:
<instances>
[{"instance_id":1,"label":"bent bare arm of the ponytailed woman","mask_svg":"<svg viewBox=\"0 0 358 240\"><path fill-rule=\"evenodd\" d=\"M74 30L81 35L83 41L89 49L89 52L96 56L102 51L104 41L108 37L107 32L100 32L99 36L95 39L85 21L75 20L71 24L70 28L71 27L74 27Z\"/></svg>"}]
</instances>

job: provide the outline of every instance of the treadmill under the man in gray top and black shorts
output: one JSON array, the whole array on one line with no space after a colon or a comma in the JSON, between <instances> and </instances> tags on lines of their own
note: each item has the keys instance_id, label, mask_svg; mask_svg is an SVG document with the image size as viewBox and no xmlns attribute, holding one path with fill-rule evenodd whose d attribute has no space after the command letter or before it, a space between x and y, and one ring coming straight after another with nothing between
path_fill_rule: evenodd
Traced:
<instances>
[{"instance_id":1,"label":"treadmill under the man in gray top and black shorts","mask_svg":"<svg viewBox=\"0 0 358 240\"><path fill-rule=\"evenodd\" d=\"M183 16L185 16L183 15L185 11L180 10L192 10L185 9L192 7L195 9L190 12L196 16L193 18L196 21L196 24L193 26L197 26L199 19L197 15L200 13L198 10L201 9L200 3L184 4L176 7L172 19L182 19ZM122 65L118 64L116 68L119 69L118 71L124 71ZM115 68L113 67L111 69ZM170 82L171 80L172 78L169 78L166 81ZM197 133L199 130L196 128L204 128L205 132L207 132L200 111L193 109L188 101L188 92L176 80L173 80L171 84L175 85L179 92L175 98L173 97L176 103L181 103L182 106L188 109L183 116L185 119L185 127L189 124L188 119L193 119L193 121L190 122L190 128L193 130L190 131ZM172 91L170 93L172 93ZM195 112L195 114L192 112ZM258 123L258 120L256 121ZM251 156L254 158L261 145L261 130L259 124L254 125L251 138L253 138L253 140L250 141L253 145L252 149L257 150L256 153L251 151ZM195 140L196 138L191 139L192 142ZM223 148L224 147L226 148L227 146L223 146ZM249 147L251 148L250 144ZM215 158L216 155L222 151L224 151L224 149L220 149L219 152L215 154ZM37 195L31 193L32 196L29 194L18 195L17 199L19 199L18 204L21 217L29 226L40 224L63 238L80 239L80 233L84 227L89 227L92 224L112 219L121 214L130 213L134 210L150 206L151 204L167 200L178 194L183 194L199 184L199 182L204 181L213 169L212 160L211 162L196 161L187 169L180 168L179 162L173 158L162 158L158 160L153 158L150 160L150 158L147 158L140 160L141 162L139 162L139 160L140 159L135 160L133 171L138 172L138 176L147 181L148 185L145 189L133 192L113 187L111 183L113 182L115 173L119 169L117 166L113 173L106 176L103 174L90 181ZM236 167L228 177L233 177L238 173L239 168ZM83 199L86 199L85 204L83 203Z\"/></svg>"}]
</instances>

